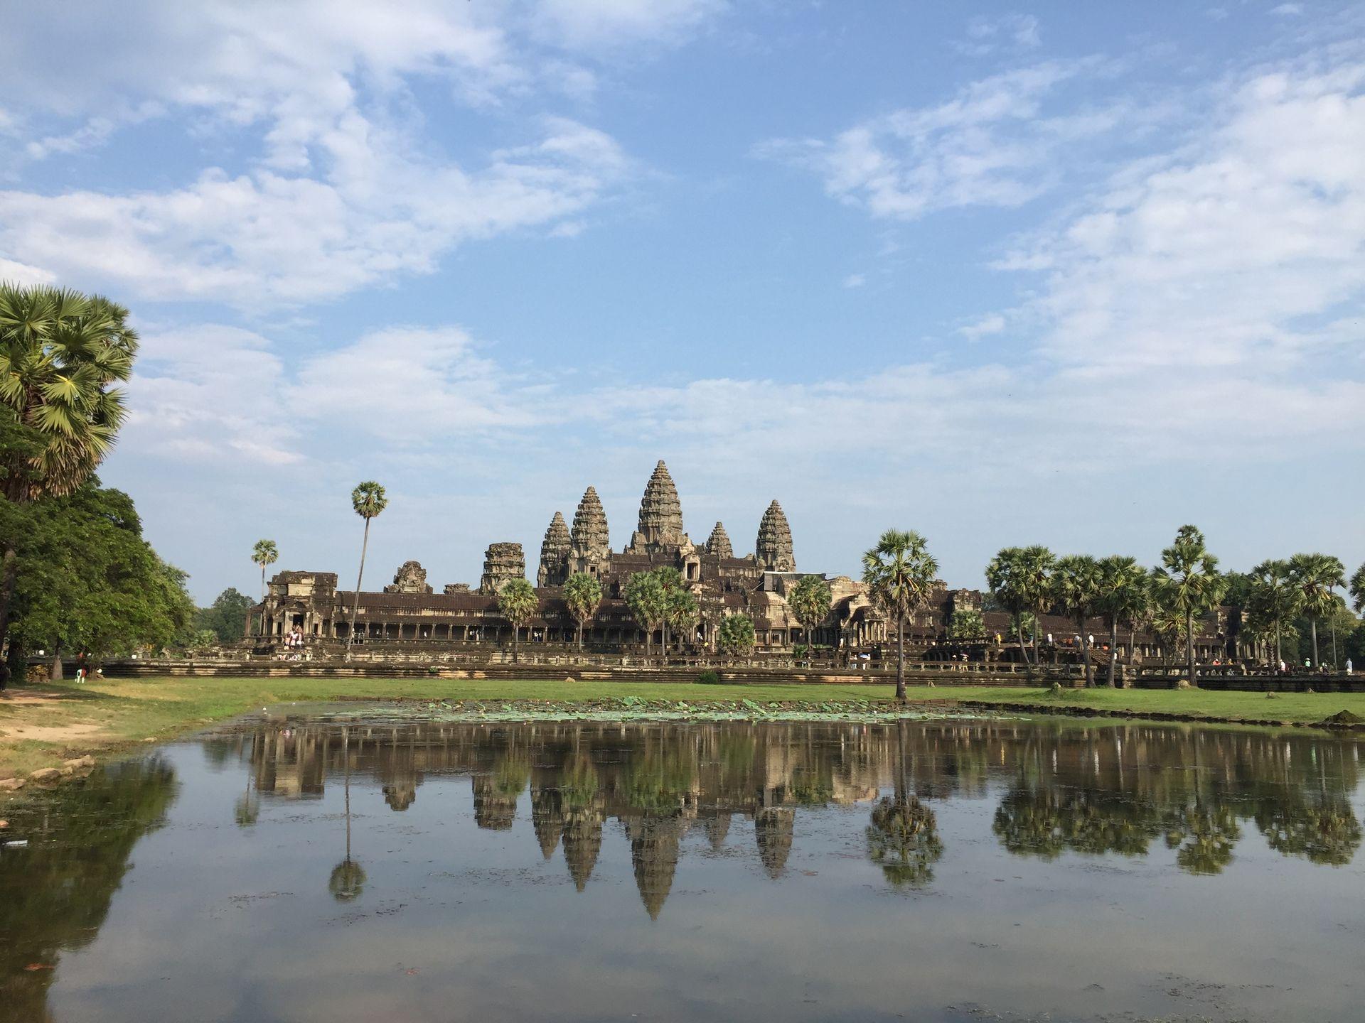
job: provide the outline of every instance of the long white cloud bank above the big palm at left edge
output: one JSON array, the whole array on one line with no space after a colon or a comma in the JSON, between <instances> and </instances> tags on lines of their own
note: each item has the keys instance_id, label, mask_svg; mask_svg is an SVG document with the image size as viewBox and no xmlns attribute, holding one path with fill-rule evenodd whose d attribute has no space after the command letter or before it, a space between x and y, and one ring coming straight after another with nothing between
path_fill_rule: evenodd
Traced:
<instances>
[{"instance_id":1,"label":"long white cloud bank above the big palm at left edge","mask_svg":"<svg viewBox=\"0 0 1365 1023\"><path fill-rule=\"evenodd\" d=\"M68 280L150 299L315 301L431 271L470 239L553 226L627 173L616 142L556 120L468 173L377 147L363 130L329 180L206 170L169 192L0 191L0 251Z\"/></svg>"}]
</instances>

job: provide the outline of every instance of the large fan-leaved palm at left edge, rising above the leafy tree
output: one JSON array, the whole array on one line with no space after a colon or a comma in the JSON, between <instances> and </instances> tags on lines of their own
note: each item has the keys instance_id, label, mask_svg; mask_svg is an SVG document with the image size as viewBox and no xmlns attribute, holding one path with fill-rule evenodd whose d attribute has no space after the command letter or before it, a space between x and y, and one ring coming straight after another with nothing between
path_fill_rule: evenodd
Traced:
<instances>
[{"instance_id":1,"label":"large fan-leaved palm at left edge, rising above the leafy tree","mask_svg":"<svg viewBox=\"0 0 1365 1023\"><path fill-rule=\"evenodd\" d=\"M113 447L138 334L128 311L97 295L0 282L0 405L25 432L0 451L0 490L15 503L71 494ZM0 548L0 648L18 550ZM0 686L4 682L0 679Z\"/></svg>"}]
</instances>

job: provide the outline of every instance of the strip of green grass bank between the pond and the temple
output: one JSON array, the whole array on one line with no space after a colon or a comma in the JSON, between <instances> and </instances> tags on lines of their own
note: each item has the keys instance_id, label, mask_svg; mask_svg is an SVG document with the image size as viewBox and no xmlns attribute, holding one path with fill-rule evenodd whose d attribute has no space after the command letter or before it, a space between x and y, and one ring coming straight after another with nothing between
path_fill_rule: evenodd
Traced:
<instances>
[{"instance_id":1,"label":"strip of green grass bank between the pond and the temple","mask_svg":"<svg viewBox=\"0 0 1365 1023\"><path fill-rule=\"evenodd\" d=\"M124 752L162 741L274 702L337 698L551 700L644 697L667 701L824 702L891 709L891 686L715 686L654 682L325 679L325 678L156 678L106 679L75 685L16 686L0 696L0 779L23 776L82 754ZM910 700L938 708L953 704L1039 713L1107 713L1129 717L1250 724L1308 724L1338 711L1365 717L1365 693L1263 693L1204 690L1089 689L1022 686L910 686Z\"/></svg>"}]
</instances>

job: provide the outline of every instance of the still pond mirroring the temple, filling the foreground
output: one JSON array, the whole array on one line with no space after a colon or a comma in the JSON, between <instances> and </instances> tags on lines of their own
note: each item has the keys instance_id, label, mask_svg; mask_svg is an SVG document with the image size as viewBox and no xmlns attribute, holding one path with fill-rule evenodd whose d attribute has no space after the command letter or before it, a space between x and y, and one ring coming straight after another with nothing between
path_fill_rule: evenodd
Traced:
<instances>
[{"instance_id":1,"label":"still pond mirroring the temple, filling the foreground","mask_svg":"<svg viewBox=\"0 0 1365 1023\"><path fill-rule=\"evenodd\" d=\"M251 720L12 817L0 1019L1358 1020L1360 753Z\"/></svg>"}]
</instances>

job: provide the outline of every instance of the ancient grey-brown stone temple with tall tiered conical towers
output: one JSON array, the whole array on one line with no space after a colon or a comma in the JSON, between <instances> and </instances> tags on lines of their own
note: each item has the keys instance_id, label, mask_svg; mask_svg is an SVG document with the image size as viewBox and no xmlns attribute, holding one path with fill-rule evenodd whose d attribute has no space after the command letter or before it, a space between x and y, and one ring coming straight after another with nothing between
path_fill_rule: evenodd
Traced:
<instances>
[{"instance_id":1,"label":"ancient grey-brown stone temple with tall tiered conical towers","mask_svg":"<svg viewBox=\"0 0 1365 1023\"><path fill-rule=\"evenodd\" d=\"M711 528L703 544L695 544L684 528L677 487L667 466L659 461L646 483L631 540L614 551L602 501L597 490L588 487L572 524L565 522L561 512L550 516L534 573L539 608L520 626L517 638L547 645L576 642L577 623L564 600L564 584L575 573L587 573L601 581L603 600L584 625L584 647L598 653L643 652L647 641L650 645L662 641L662 630L647 637L622 592L632 574L661 566L677 569L684 585L696 596L699 615L693 633L673 637L695 652L715 649L717 629L730 614L744 614L753 622L755 648L760 653L790 652L797 644L856 651L879 647L891 638L894 623L889 623L868 599L863 582L848 576L797 570L792 527L777 501L763 512L753 536L753 552L743 557L736 557L721 522ZM811 630L801 626L788 603L790 588L805 574L819 574L833 595L829 617ZM310 641L326 647L328 641L348 638L355 606L354 644L404 648L412 641L440 647L505 644L512 640L512 625L498 611L497 596L509 580L526 577L526 552L512 540L489 544L478 585L452 582L440 593L427 582L426 570L416 561L404 562L382 592L360 592L359 602L354 591L337 589L334 572L281 572L270 580L266 599L253 618L261 623L261 634L266 638L299 630ZM983 612L988 634L1009 633L1007 615L990 611L981 592L949 589L940 582L930 606L905 623L910 647L923 652L943 642L947 623L957 611ZM1046 615L1041 629L1057 633L1061 641L1072 636L1074 625ZM1102 629L1103 623L1096 621L1093 632L1099 634ZM1213 622L1205 633L1200 640L1201 653L1216 656L1223 642L1220 622ZM1140 638L1144 640L1140 652L1152 653L1153 637ZM996 642L1001 655L1009 657L1006 645Z\"/></svg>"}]
</instances>

